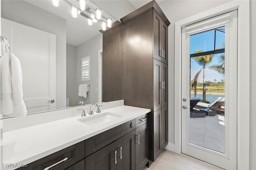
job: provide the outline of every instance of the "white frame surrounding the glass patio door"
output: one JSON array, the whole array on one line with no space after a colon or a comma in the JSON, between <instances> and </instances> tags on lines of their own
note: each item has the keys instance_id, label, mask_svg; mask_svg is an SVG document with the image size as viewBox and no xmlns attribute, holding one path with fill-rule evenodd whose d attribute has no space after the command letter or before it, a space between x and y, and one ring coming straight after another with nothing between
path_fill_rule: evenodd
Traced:
<instances>
[{"instance_id":1,"label":"white frame surrounding the glass patio door","mask_svg":"<svg viewBox=\"0 0 256 170\"><path fill-rule=\"evenodd\" d=\"M238 132L237 169L249 169L250 13L249 0L232 1L175 23L174 150L181 153L181 41L182 27L238 10ZM246 99L246 100L244 100Z\"/></svg>"}]
</instances>

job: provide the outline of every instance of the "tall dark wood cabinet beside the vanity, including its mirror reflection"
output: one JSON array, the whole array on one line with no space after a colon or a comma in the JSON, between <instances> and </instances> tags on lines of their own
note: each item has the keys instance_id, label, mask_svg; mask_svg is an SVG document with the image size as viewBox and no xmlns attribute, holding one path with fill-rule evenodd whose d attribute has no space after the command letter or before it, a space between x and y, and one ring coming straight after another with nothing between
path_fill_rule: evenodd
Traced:
<instances>
[{"instance_id":1,"label":"tall dark wood cabinet beside the vanity, including its mirror reflection","mask_svg":"<svg viewBox=\"0 0 256 170\"><path fill-rule=\"evenodd\" d=\"M120 98L120 86L122 86L122 99L127 106L144 107L151 109L149 122L149 160L155 161L162 149L168 144L168 25L170 21L166 18L156 1L152 1L138 10L120 19L121 26L107 31L103 34L103 51L111 48L112 52L103 53L103 59L110 66L103 65L103 73L107 78L113 77L116 72L122 72L115 76L114 82L108 78L105 85L103 81L103 96L108 101ZM122 30L122 33L120 31ZM122 34L122 35L121 35ZM113 36L113 37L109 37ZM117 37L117 38L115 38ZM120 51L116 51L113 46L122 46ZM122 42L120 42L122 39ZM113 47L113 48L112 48ZM118 47L118 49L119 49ZM116 51L116 52L114 52ZM122 54L121 54L122 53ZM122 57L120 57L122 56ZM114 61L118 60L118 61ZM112 63L114 62L114 63ZM122 66L122 68L120 68ZM116 69L113 72L113 67ZM103 74L104 80L104 74ZM116 84L119 84L118 87ZM113 85L115 84L115 85ZM105 91L105 92L104 92Z\"/></svg>"}]
</instances>

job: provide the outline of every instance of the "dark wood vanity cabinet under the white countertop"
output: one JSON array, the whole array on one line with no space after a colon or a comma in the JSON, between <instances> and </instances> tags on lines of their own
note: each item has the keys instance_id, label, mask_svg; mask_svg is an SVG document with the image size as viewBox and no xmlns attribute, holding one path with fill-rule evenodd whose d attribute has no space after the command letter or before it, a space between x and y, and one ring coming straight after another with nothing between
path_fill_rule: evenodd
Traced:
<instances>
[{"instance_id":1,"label":"dark wood vanity cabinet under the white countertop","mask_svg":"<svg viewBox=\"0 0 256 170\"><path fill-rule=\"evenodd\" d=\"M44 170L47 167L51 167L49 170L141 170L148 163L149 114L36 160L19 170Z\"/></svg>"}]
</instances>

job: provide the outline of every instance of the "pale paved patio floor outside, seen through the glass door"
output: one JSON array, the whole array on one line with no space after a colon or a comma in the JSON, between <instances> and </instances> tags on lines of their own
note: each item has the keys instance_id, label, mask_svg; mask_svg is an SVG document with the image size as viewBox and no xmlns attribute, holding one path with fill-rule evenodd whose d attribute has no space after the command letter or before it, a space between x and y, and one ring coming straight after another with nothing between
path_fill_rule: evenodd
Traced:
<instances>
[{"instance_id":1,"label":"pale paved patio floor outside, seen through the glass door","mask_svg":"<svg viewBox=\"0 0 256 170\"><path fill-rule=\"evenodd\" d=\"M225 117L222 115L190 118L190 143L225 152Z\"/></svg>"}]
</instances>

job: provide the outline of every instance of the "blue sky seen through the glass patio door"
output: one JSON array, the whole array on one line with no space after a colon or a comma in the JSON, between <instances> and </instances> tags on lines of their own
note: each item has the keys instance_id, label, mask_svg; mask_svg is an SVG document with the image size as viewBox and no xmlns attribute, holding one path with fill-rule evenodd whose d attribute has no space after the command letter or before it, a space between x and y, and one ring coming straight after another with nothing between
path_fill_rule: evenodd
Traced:
<instances>
[{"instance_id":1,"label":"blue sky seen through the glass patio door","mask_svg":"<svg viewBox=\"0 0 256 170\"><path fill-rule=\"evenodd\" d=\"M225 42L225 33L216 31L216 47L215 48L217 49L221 48L220 45L224 42ZM196 50L212 51L213 49L214 49L214 30L190 36L190 54L193 54ZM212 63L210 63L208 66L218 64L218 56L220 55L221 53L216 54L212 60ZM196 75L196 73L201 68L202 68L201 66L199 66L193 59L191 59L191 79L192 80ZM206 68L205 79L206 81L212 81L212 82L214 79L216 79L217 81L220 81L221 79L224 79L224 76L214 70L210 70ZM198 78L198 82L203 82L203 71L201 72Z\"/></svg>"}]
</instances>

